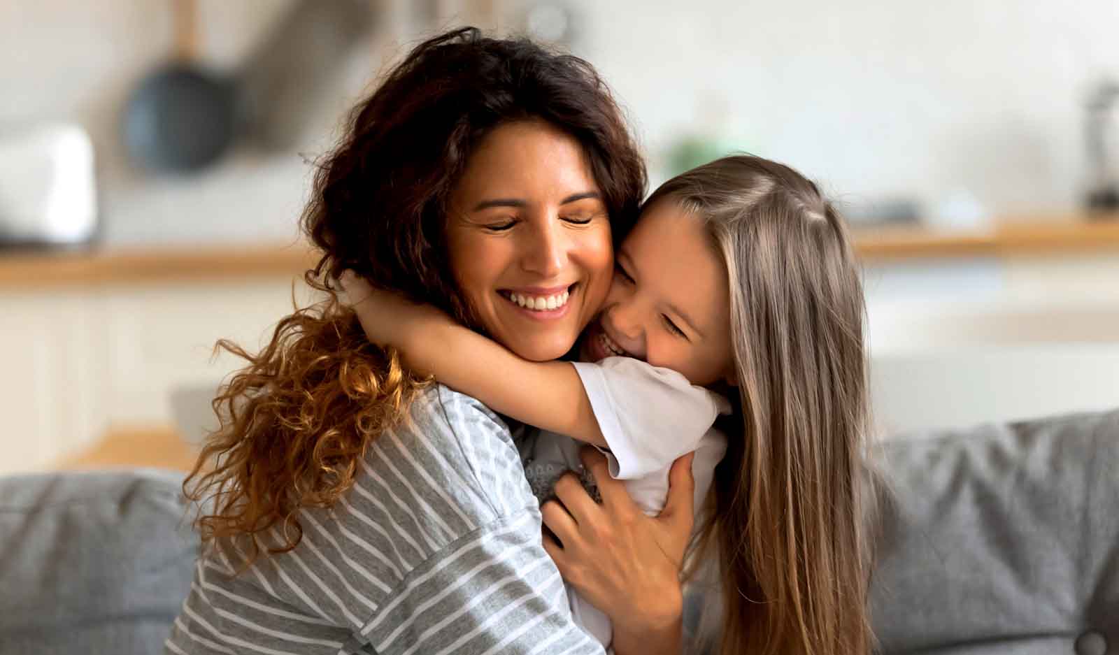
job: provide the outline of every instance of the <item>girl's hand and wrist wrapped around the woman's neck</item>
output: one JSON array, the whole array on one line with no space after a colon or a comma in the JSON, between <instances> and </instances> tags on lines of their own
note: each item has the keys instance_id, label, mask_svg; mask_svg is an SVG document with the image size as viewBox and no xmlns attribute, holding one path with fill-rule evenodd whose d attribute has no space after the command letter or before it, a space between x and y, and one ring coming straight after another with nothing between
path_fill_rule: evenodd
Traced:
<instances>
[{"instance_id":1,"label":"girl's hand and wrist wrapped around the woman's neck","mask_svg":"<svg viewBox=\"0 0 1119 655\"><path fill-rule=\"evenodd\" d=\"M347 270L338 281L342 286L339 300L357 313L369 341L382 347L407 351L410 340L423 339L425 332L454 322L431 305L417 305L404 296L374 288L364 278Z\"/></svg>"}]
</instances>

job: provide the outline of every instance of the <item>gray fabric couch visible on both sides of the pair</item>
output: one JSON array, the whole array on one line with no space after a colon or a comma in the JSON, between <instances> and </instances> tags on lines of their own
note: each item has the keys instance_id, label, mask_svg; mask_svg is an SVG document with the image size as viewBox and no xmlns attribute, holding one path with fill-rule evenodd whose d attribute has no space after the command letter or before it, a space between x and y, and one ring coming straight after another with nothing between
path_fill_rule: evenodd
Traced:
<instances>
[{"instance_id":1,"label":"gray fabric couch visible on both sides of the pair","mask_svg":"<svg viewBox=\"0 0 1119 655\"><path fill-rule=\"evenodd\" d=\"M885 443L886 654L1119 653L1119 411ZM196 539L175 474L0 478L0 654L158 653Z\"/></svg>"}]
</instances>

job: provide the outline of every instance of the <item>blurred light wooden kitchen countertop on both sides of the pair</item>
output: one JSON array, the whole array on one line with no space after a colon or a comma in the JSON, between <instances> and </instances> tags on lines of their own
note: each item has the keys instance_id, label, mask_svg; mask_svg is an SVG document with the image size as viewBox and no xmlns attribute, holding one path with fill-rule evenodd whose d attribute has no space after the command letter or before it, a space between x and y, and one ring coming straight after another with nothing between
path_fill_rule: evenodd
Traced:
<instances>
[{"instance_id":1,"label":"blurred light wooden kitchen countertop on both sides of the pair","mask_svg":"<svg viewBox=\"0 0 1119 655\"><path fill-rule=\"evenodd\" d=\"M988 231L922 227L856 231L867 263L909 258L1021 256L1119 250L1119 215L1005 220ZM0 288L102 286L163 281L301 275L318 258L304 243L273 246L149 247L0 254Z\"/></svg>"}]
</instances>

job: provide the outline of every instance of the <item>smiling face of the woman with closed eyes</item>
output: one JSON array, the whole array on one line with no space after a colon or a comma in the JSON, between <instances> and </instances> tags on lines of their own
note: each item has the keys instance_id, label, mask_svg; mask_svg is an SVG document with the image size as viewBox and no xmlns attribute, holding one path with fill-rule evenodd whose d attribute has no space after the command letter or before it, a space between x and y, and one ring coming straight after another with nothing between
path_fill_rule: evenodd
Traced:
<instances>
[{"instance_id":1,"label":"smiling face of the woman with closed eyes","mask_svg":"<svg viewBox=\"0 0 1119 655\"><path fill-rule=\"evenodd\" d=\"M451 194L460 292L518 355L562 357L610 288L610 217L579 142L542 121L496 127Z\"/></svg>"}]
</instances>

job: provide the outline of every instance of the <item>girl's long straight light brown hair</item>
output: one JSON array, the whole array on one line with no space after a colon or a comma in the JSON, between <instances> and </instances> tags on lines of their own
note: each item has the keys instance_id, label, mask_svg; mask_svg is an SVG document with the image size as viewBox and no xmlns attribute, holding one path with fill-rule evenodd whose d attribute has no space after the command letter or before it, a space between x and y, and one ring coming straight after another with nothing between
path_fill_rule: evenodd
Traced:
<instances>
[{"instance_id":1,"label":"girl's long straight light brown hair","mask_svg":"<svg viewBox=\"0 0 1119 655\"><path fill-rule=\"evenodd\" d=\"M690 558L718 561L720 651L868 653L865 304L847 229L815 183L756 156L683 173L647 206L661 201L704 222L730 276L737 407Z\"/></svg>"}]
</instances>

